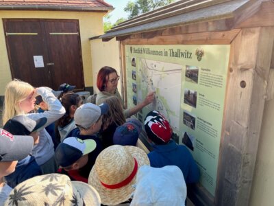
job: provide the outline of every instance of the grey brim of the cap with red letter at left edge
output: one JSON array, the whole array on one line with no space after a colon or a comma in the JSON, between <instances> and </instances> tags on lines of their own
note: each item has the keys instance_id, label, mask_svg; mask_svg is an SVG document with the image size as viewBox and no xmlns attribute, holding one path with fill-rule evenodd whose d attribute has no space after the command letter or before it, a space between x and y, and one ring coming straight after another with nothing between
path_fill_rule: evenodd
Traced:
<instances>
[{"instance_id":1,"label":"grey brim of the cap with red letter at left edge","mask_svg":"<svg viewBox=\"0 0 274 206\"><path fill-rule=\"evenodd\" d=\"M10 153L5 154L1 161L20 161L32 152L34 138L32 136L13 135Z\"/></svg>"}]
</instances>

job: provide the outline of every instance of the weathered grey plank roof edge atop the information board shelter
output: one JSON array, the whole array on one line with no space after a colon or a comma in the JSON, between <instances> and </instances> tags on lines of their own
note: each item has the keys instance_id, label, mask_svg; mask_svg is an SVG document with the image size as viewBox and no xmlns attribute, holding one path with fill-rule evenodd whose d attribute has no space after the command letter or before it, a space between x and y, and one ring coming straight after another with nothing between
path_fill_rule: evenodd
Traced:
<instances>
[{"instance_id":1,"label":"weathered grey plank roof edge atop the information board shelter","mask_svg":"<svg viewBox=\"0 0 274 206\"><path fill-rule=\"evenodd\" d=\"M233 20L236 16L235 12L239 10L239 8L242 8L242 5L248 5L249 7L253 5L253 7L259 8L260 3L261 1L258 0L224 1L223 3L219 3L208 8L200 8L199 10L193 10L191 12L177 14L175 16L167 16L168 14L164 14L163 16L153 17L154 21L145 19L143 20L143 23L140 21L139 23L127 23L121 27L115 27L114 29L101 35L100 38L102 38L103 41L108 41L109 39L118 36L151 32L179 25L190 25L206 21L223 21L224 19ZM229 5L229 8L227 8L226 5ZM165 15L166 18L164 18Z\"/></svg>"}]
</instances>

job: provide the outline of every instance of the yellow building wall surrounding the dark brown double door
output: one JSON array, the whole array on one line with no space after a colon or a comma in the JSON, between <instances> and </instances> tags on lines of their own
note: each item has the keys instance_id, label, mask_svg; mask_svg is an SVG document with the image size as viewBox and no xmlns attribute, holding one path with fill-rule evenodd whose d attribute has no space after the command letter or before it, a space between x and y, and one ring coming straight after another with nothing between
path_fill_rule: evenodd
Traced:
<instances>
[{"instance_id":1,"label":"yellow building wall surrounding the dark brown double door","mask_svg":"<svg viewBox=\"0 0 274 206\"><path fill-rule=\"evenodd\" d=\"M89 38L103 34L104 14L103 12L0 11L1 19L78 19L85 87L93 86ZM0 95L4 95L5 85L12 80L12 76L2 20L0 21L0 54Z\"/></svg>"}]
</instances>

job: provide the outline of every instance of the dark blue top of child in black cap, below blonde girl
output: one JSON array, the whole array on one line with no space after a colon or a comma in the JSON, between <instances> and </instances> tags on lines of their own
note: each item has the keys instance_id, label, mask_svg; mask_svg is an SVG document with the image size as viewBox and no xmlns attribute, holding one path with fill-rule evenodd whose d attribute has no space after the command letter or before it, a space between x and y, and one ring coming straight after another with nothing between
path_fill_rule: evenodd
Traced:
<instances>
[{"instance_id":1,"label":"dark blue top of child in black cap, below blonde girl","mask_svg":"<svg viewBox=\"0 0 274 206\"><path fill-rule=\"evenodd\" d=\"M42 175L42 170L36 163L35 158L29 155L21 161L18 161L15 171L5 176L5 180L7 184L13 188L19 183L38 175Z\"/></svg>"}]
</instances>

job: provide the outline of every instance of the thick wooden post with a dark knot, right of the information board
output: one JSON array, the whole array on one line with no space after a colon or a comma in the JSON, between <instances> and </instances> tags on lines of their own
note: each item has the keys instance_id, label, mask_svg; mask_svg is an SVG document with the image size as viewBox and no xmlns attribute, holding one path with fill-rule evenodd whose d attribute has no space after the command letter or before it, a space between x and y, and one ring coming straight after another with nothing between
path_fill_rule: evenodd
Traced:
<instances>
[{"instance_id":1,"label":"thick wooden post with a dark knot, right of the information board","mask_svg":"<svg viewBox=\"0 0 274 206\"><path fill-rule=\"evenodd\" d=\"M215 205L249 203L273 39L274 27L253 27L232 42Z\"/></svg>"}]
</instances>

